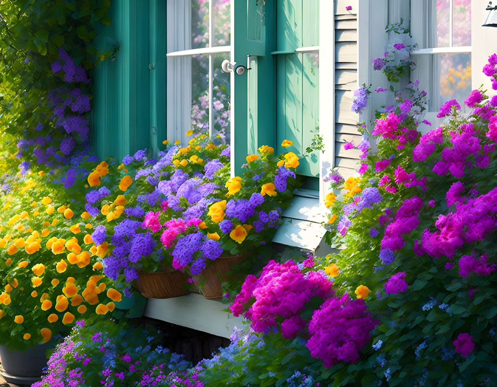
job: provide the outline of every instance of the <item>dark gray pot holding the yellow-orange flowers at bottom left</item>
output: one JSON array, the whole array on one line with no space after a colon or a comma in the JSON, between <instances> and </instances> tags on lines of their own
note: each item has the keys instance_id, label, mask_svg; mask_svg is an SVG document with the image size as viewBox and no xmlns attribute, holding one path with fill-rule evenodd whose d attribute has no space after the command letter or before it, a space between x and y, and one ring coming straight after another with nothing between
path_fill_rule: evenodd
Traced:
<instances>
[{"instance_id":1,"label":"dark gray pot holding the yellow-orange flowers at bottom left","mask_svg":"<svg viewBox=\"0 0 497 387\"><path fill-rule=\"evenodd\" d=\"M37 344L26 352L10 351L0 345L0 358L3 370L13 376L38 377L47 365L45 351L53 347L52 343Z\"/></svg>"}]
</instances>

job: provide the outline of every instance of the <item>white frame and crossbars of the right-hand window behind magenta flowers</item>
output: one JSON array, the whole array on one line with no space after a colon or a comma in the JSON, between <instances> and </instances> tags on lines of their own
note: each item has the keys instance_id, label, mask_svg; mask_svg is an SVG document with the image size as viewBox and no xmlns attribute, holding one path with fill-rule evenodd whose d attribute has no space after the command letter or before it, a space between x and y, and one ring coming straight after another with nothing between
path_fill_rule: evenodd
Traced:
<instances>
[{"instance_id":1,"label":"white frame and crossbars of the right-hand window behind magenta flowers","mask_svg":"<svg viewBox=\"0 0 497 387\"><path fill-rule=\"evenodd\" d=\"M471 53L473 51L472 46L453 46L453 4L454 0L450 0L449 4L449 46L448 47L426 47L429 43L426 42L427 30L428 28L436 28L436 26L430 26L427 24L430 18L430 13L428 6L432 0L416 0L411 1L411 33L413 35L414 43L417 43L419 48L411 51L411 56L416 64L416 68L411 72L411 80L419 80L421 89L427 90L429 85L423 83L429 82L429 74L437 74L437 69L434 68L434 61L432 60L434 55L439 54L462 54ZM473 1L472 1L473 10ZM473 17L473 15L472 15ZM471 62L473 62L473 55L471 56ZM472 66L473 67L473 66ZM436 92L436 85L430 86L431 93L428 93L428 98L433 97L430 94L438 94ZM443 118L437 118L436 114L438 111L428 111L425 114L425 119L431 122L431 126L424 123L419 124L419 130L422 133L428 132L433 127L440 125L443 122Z\"/></svg>"}]
</instances>

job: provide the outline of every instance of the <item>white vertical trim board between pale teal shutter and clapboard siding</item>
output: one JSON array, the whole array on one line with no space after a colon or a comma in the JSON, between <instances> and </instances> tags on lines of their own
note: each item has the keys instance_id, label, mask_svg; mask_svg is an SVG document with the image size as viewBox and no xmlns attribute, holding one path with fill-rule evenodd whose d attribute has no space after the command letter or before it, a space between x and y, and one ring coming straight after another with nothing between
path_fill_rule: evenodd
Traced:
<instances>
[{"instance_id":1,"label":"white vertical trim board between pale teal shutter and clapboard siding","mask_svg":"<svg viewBox=\"0 0 497 387\"><path fill-rule=\"evenodd\" d=\"M335 159L335 26L334 1L321 1L319 19L319 134L325 144L320 152L320 208L326 213L324 199L329 184L323 178L328 176Z\"/></svg>"}]
</instances>

